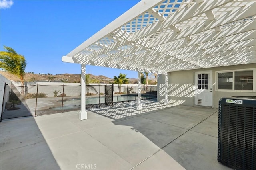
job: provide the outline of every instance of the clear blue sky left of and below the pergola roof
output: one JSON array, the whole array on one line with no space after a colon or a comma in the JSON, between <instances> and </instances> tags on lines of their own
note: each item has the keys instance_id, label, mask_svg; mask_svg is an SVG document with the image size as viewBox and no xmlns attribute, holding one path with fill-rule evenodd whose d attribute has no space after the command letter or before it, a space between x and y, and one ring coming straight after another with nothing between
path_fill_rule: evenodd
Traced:
<instances>
[{"instance_id":1,"label":"clear blue sky left of and below the pergola roof","mask_svg":"<svg viewBox=\"0 0 256 170\"><path fill-rule=\"evenodd\" d=\"M1 51L6 45L24 55L26 72L80 74L80 64L64 63L61 57L137 3L135 0L1 0ZM110 78L120 72L128 78L136 78L138 74L86 66L86 73Z\"/></svg>"}]
</instances>

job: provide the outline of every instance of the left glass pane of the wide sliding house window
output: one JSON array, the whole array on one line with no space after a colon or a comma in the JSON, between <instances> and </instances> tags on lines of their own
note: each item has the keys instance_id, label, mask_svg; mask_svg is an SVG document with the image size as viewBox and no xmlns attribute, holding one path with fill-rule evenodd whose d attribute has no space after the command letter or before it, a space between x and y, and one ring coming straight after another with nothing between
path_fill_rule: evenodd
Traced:
<instances>
[{"instance_id":1,"label":"left glass pane of the wide sliding house window","mask_svg":"<svg viewBox=\"0 0 256 170\"><path fill-rule=\"evenodd\" d=\"M218 89L233 89L233 72L218 73Z\"/></svg>"}]
</instances>

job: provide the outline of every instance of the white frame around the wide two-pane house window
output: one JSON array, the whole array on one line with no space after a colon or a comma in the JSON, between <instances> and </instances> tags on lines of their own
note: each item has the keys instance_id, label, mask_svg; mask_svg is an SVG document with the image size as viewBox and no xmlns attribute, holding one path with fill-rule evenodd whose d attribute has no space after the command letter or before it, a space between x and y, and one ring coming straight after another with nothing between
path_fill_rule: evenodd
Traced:
<instances>
[{"instance_id":1,"label":"white frame around the wide two-pane house window","mask_svg":"<svg viewBox=\"0 0 256 170\"><path fill-rule=\"evenodd\" d=\"M253 71L253 82L252 82L253 89L252 90L235 90L235 72L239 72L239 71ZM232 89L218 89L218 73L226 73L226 72L233 73ZM216 86L215 86L216 92L256 92L256 68L216 71L215 82L216 82Z\"/></svg>"}]
</instances>

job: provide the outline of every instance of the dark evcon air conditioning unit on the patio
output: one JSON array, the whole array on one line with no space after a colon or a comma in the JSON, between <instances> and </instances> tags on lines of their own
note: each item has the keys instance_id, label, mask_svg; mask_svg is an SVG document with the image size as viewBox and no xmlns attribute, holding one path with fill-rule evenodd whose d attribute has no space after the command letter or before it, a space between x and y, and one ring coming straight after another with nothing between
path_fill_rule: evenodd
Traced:
<instances>
[{"instance_id":1,"label":"dark evcon air conditioning unit on the patio","mask_svg":"<svg viewBox=\"0 0 256 170\"><path fill-rule=\"evenodd\" d=\"M256 170L256 96L220 98L218 121L218 161Z\"/></svg>"}]
</instances>

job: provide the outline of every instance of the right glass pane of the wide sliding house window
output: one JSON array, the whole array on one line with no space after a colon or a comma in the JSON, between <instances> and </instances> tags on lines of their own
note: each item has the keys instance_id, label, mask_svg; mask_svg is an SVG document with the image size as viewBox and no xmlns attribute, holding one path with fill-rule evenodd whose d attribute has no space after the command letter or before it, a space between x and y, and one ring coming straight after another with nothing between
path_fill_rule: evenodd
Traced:
<instances>
[{"instance_id":1,"label":"right glass pane of the wide sliding house window","mask_svg":"<svg viewBox=\"0 0 256 170\"><path fill-rule=\"evenodd\" d=\"M253 71L235 71L235 90L253 90Z\"/></svg>"}]
</instances>

